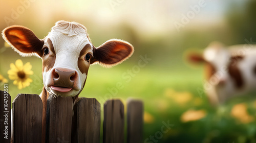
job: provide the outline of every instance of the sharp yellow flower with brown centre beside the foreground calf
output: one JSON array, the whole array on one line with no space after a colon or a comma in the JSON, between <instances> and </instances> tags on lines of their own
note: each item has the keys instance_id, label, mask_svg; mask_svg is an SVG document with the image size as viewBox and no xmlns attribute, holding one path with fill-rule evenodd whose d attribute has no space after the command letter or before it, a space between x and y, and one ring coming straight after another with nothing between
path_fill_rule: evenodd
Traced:
<instances>
[{"instance_id":1,"label":"sharp yellow flower with brown centre beside the foreground calf","mask_svg":"<svg viewBox=\"0 0 256 143\"><path fill-rule=\"evenodd\" d=\"M10 80L14 80L13 84L18 86L18 89L25 88L30 85L32 79L29 78L29 75L33 75L31 70L32 65L30 62L27 62L23 65L22 60L16 60L15 64L10 64L11 69L8 70L8 75Z\"/></svg>"}]
</instances>

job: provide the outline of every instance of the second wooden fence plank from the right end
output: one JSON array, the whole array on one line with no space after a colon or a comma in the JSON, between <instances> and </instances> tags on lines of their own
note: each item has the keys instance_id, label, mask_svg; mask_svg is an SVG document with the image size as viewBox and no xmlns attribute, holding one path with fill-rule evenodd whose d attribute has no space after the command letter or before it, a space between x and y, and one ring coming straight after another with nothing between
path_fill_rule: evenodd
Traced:
<instances>
[{"instance_id":1,"label":"second wooden fence plank from the right end","mask_svg":"<svg viewBox=\"0 0 256 143\"><path fill-rule=\"evenodd\" d=\"M124 142L124 112L120 100L108 100L104 104L103 142Z\"/></svg>"}]
</instances>

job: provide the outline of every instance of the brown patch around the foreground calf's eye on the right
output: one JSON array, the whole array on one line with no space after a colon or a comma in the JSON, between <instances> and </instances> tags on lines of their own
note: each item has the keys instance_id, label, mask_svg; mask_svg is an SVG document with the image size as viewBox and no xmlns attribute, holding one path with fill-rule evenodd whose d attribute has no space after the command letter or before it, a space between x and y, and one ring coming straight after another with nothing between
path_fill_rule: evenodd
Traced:
<instances>
[{"instance_id":1,"label":"brown patch around the foreground calf's eye on the right","mask_svg":"<svg viewBox=\"0 0 256 143\"><path fill-rule=\"evenodd\" d=\"M90 66L90 60L89 62L84 59L84 56L86 56L86 54L88 54L87 52L91 49L91 45L90 44L87 44L86 46L83 47L83 49L81 50L80 54L79 54L79 57L78 57L78 68L79 70L81 71L82 74L86 74L88 73L88 69L89 69L89 66ZM92 58L92 55L91 55L91 58Z\"/></svg>"}]
</instances>

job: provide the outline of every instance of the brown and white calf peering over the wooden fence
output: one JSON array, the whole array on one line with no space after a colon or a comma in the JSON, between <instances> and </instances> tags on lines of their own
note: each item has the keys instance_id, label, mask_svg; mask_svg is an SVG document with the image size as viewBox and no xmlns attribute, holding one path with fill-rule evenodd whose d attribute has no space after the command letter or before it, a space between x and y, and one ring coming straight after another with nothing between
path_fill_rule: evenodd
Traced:
<instances>
[{"instance_id":1,"label":"brown and white calf peering over the wooden fence","mask_svg":"<svg viewBox=\"0 0 256 143\"><path fill-rule=\"evenodd\" d=\"M37 38L30 29L23 26L7 27L2 35L21 56L33 55L42 59L44 88L40 97L44 105L43 133L49 94L73 97L76 102L86 83L90 64L114 66L134 52L129 42L119 39L108 40L96 48L84 26L63 20L56 22L44 39Z\"/></svg>"}]
</instances>

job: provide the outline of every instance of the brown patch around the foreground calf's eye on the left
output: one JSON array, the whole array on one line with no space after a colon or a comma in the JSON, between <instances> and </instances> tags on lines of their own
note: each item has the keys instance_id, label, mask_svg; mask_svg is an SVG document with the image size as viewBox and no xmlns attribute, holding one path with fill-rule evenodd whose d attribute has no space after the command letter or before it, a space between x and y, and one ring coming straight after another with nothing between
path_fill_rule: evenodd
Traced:
<instances>
[{"instance_id":1,"label":"brown patch around the foreground calf's eye on the left","mask_svg":"<svg viewBox=\"0 0 256 143\"><path fill-rule=\"evenodd\" d=\"M51 39L48 38L47 42L49 43L48 49L50 53L45 56L42 54L42 71L43 72L49 71L50 69L52 69L56 59L56 54L55 54ZM42 51L43 51L42 53L44 53L44 48L42 49Z\"/></svg>"}]
</instances>

